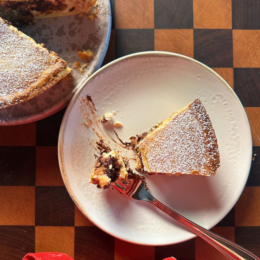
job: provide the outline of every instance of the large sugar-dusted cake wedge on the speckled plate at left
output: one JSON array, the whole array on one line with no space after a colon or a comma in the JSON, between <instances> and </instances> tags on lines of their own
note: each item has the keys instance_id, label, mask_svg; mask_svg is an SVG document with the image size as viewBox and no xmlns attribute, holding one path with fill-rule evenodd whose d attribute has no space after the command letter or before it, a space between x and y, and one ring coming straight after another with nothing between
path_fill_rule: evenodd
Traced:
<instances>
[{"instance_id":1,"label":"large sugar-dusted cake wedge on the speckled plate at left","mask_svg":"<svg viewBox=\"0 0 260 260\"><path fill-rule=\"evenodd\" d=\"M0 108L40 95L70 71L56 53L0 17Z\"/></svg>"}]
</instances>

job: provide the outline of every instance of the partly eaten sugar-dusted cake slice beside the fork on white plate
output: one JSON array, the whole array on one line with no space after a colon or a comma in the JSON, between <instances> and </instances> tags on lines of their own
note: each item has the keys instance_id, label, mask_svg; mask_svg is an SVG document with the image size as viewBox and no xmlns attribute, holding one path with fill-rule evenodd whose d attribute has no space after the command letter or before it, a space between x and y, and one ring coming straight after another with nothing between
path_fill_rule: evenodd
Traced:
<instances>
[{"instance_id":1,"label":"partly eaten sugar-dusted cake slice beside the fork on white plate","mask_svg":"<svg viewBox=\"0 0 260 260\"><path fill-rule=\"evenodd\" d=\"M148 174L213 176L220 164L215 131L199 99L129 139L137 152L136 169Z\"/></svg>"}]
</instances>

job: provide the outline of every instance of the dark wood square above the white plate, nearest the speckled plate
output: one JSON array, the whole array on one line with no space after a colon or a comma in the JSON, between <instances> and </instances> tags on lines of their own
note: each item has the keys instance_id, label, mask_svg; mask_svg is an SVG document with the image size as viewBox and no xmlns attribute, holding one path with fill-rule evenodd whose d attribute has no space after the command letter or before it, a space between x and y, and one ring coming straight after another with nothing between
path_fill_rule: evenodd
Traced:
<instances>
[{"instance_id":1,"label":"dark wood square above the white plate, nearest the speckled plate","mask_svg":"<svg viewBox=\"0 0 260 260\"><path fill-rule=\"evenodd\" d=\"M154 50L153 29L116 29L115 58L140 52Z\"/></svg>"}]
</instances>

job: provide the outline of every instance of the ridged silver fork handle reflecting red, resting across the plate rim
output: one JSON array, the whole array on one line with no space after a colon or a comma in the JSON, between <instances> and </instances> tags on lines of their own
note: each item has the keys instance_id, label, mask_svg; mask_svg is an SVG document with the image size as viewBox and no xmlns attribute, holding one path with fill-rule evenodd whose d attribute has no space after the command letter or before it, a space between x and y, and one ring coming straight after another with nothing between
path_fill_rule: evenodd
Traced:
<instances>
[{"instance_id":1,"label":"ridged silver fork handle reflecting red, resting across the plate rim","mask_svg":"<svg viewBox=\"0 0 260 260\"><path fill-rule=\"evenodd\" d=\"M242 246L240 246L222 236L219 236L219 235L203 228L202 226L195 224L191 220L181 216L177 212L173 211L172 209L170 209L167 206L165 206L164 204L162 204L159 200L155 199L149 192L148 192L148 198L145 198L144 200L153 204L158 209L162 210L167 215L169 215L170 217L177 220L179 223L186 226L186 228L190 229L196 235L203 238L205 241L207 241L213 247L218 249L229 259L231 259L231 260L260 260L260 258L258 258L256 255L254 255L252 252L246 250Z\"/></svg>"}]
</instances>

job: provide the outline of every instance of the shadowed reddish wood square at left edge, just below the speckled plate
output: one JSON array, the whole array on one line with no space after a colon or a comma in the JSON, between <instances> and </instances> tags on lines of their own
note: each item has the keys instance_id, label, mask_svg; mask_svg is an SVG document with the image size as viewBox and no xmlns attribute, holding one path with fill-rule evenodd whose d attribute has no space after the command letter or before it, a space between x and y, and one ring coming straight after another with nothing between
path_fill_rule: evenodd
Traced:
<instances>
[{"instance_id":1,"label":"shadowed reddish wood square at left edge, just below the speckled plate","mask_svg":"<svg viewBox=\"0 0 260 260\"><path fill-rule=\"evenodd\" d=\"M1 146L35 146L36 123L0 127Z\"/></svg>"}]
</instances>

